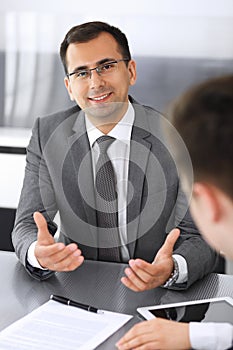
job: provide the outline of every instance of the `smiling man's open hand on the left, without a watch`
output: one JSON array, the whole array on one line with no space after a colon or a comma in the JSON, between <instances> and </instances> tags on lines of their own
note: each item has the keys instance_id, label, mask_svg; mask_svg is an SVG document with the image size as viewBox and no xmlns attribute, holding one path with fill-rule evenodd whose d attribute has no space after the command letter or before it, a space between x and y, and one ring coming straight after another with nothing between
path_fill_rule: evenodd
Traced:
<instances>
[{"instance_id":1,"label":"smiling man's open hand on the left, without a watch","mask_svg":"<svg viewBox=\"0 0 233 350\"><path fill-rule=\"evenodd\" d=\"M35 212L33 217L38 228L35 257L41 267L52 271L73 271L79 267L83 263L84 257L77 244L71 243L66 246L61 242L56 243L49 233L43 215Z\"/></svg>"}]
</instances>

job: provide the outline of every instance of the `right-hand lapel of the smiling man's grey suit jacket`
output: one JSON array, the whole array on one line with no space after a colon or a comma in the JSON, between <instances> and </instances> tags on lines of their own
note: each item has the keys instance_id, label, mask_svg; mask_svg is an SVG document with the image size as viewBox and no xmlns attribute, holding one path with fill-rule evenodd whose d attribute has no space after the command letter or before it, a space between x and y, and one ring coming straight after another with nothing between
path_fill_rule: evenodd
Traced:
<instances>
[{"instance_id":1,"label":"right-hand lapel of the smiling man's grey suit jacket","mask_svg":"<svg viewBox=\"0 0 233 350\"><path fill-rule=\"evenodd\" d=\"M147 115L139 104L133 105L135 109L135 122L132 129L130 143L128 200L127 200L127 237L130 257L134 256L135 244L138 237L142 197L146 195L145 175L150 154L151 143ZM133 188L133 194L130 192ZM132 198L130 200L130 198Z\"/></svg>"}]
</instances>

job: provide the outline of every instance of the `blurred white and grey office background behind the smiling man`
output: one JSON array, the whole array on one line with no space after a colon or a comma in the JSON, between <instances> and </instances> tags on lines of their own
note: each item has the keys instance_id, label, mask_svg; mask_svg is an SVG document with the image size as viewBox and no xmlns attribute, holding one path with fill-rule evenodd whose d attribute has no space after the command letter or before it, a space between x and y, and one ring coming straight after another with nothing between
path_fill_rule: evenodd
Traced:
<instances>
[{"instance_id":1,"label":"blurred white and grey office background behind the smiling man","mask_svg":"<svg viewBox=\"0 0 233 350\"><path fill-rule=\"evenodd\" d=\"M232 0L1 1L0 249L12 249L34 120L72 105L60 43L72 26L90 20L126 34L138 70L131 95L160 111L190 85L233 73Z\"/></svg>"}]
</instances>

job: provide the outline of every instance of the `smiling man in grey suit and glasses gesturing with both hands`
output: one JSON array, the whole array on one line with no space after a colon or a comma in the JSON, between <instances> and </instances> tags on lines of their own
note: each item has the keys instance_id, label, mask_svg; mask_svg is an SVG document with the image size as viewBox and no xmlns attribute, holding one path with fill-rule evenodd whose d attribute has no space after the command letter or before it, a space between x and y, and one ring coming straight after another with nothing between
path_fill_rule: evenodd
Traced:
<instances>
[{"instance_id":1,"label":"smiling man in grey suit and glasses gesturing with both hands","mask_svg":"<svg viewBox=\"0 0 233 350\"><path fill-rule=\"evenodd\" d=\"M60 55L77 106L35 122L12 234L20 261L38 279L72 271L84 258L129 262L122 282L132 290L187 288L214 270L218 256L189 215L161 115L128 96L136 64L125 35L106 23L85 23L67 33ZM105 163L115 177L104 186L116 186L116 199L102 200L116 202L109 213L96 209L105 135L111 139ZM102 224L106 216L115 224Z\"/></svg>"}]
</instances>

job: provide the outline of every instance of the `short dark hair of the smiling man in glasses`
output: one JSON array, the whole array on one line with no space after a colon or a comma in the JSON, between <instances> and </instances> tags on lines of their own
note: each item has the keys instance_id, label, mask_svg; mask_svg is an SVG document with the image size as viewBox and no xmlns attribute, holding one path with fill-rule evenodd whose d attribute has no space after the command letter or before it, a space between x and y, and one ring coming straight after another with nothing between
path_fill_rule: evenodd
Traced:
<instances>
[{"instance_id":1,"label":"short dark hair of the smiling man in glasses","mask_svg":"<svg viewBox=\"0 0 233 350\"><path fill-rule=\"evenodd\" d=\"M60 57L67 73L66 51L70 44L86 43L97 38L101 33L109 33L116 40L119 52L122 57L131 60L128 40L124 33L117 27L111 26L105 22L87 22L71 28L66 34L60 46ZM126 64L128 64L126 62Z\"/></svg>"}]
</instances>

